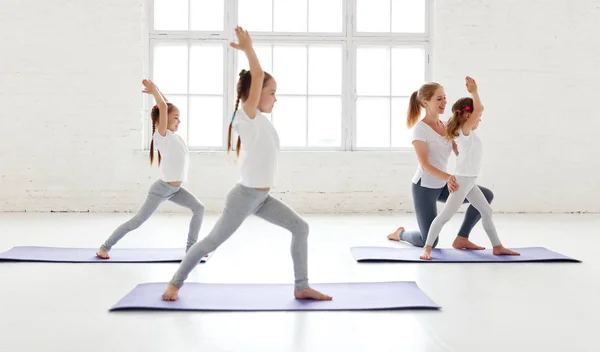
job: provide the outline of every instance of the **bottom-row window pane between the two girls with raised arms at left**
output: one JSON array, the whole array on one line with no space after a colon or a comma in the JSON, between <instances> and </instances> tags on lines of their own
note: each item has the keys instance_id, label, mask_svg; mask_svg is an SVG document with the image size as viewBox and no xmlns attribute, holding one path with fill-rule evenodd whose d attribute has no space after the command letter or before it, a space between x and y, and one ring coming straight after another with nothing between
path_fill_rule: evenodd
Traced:
<instances>
[{"instance_id":1,"label":"bottom-row window pane between the two girls with raised arms at left","mask_svg":"<svg viewBox=\"0 0 600 352\"><path fill-rule=\"evenodd\" d=\"M223 145L223 98L190 97L190 146Z\"/></svg>"}]
</instances>

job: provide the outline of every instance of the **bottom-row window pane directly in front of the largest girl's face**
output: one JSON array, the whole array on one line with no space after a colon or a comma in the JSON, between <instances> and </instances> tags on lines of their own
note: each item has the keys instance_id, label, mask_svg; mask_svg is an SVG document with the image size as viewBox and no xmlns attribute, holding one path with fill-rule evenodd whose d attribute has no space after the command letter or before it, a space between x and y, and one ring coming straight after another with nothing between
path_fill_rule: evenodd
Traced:
<instances>
[{"instance_id":1,"label":"bottom-row window pane directly in front of the largest girl's face","mask_svg":"<svg viewBox=\"0 0 600 352\"><path fill-rule=\"evenodd\" d=\"M306 97L279 97L272 121L282 147L306 146Z\"/></svg>"}]
</instances>

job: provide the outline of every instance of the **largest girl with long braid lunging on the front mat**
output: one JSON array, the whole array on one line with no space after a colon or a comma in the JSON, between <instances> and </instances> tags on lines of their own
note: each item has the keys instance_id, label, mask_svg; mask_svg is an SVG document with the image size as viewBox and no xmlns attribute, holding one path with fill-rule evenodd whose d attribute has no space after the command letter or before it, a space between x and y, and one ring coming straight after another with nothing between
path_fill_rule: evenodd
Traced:
<instances>
[{"instance_id":1,"label":"largest girl with long braid lunging on the front mat","mask_svg":"<svg viewBox=\"0 0 600 352\"><path fill-rule=\"evenodd\" d=\"M310 288L308 284L308 224L286 204L269 195L269 190L275 185L280 145L277 131L263 113L273 110L277 101L277 84L273 76L262 70L248 32L237 27L235 34L238 43L231 43L231 46L242 50L250 63L250 71L240 72L227 144L229 152L233 129L238 134L236 155L239 156L241 149L244 152L241 180L229 191L225 209L211 232L190 248L162 297L167 301L177 300L179 289L200 259L219 247L247 217L254 214L292 234L294 297L331 300L330 296Z\"/></svg>"}]
</instances>

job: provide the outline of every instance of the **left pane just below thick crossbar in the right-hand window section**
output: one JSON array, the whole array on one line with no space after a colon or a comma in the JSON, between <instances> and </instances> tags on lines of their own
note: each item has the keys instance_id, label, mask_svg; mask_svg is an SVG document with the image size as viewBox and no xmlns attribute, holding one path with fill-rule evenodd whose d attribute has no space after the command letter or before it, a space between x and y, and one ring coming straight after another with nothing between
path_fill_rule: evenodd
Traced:
<instances>
[{"instance_id":1,"label":"left pane just below thick crossbar in the right-hand window section","mask_svg":"<svg viewBox=\"0 0 600 352\"><path fill-rule=\"evenodd\" d=\"M361 47L356 57L359 95L390 95L390 48Z\"/></svg>"}]
</instances>

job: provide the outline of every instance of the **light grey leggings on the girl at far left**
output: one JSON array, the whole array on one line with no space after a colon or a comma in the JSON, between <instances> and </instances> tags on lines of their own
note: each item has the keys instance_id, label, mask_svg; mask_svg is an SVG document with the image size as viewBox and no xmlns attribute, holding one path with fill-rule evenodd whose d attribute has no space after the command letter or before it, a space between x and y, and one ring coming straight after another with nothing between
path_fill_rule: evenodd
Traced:
<instances>
[{"instance_id":1,"label":"light grey leggings on the girl at far left","mask_svg":"<svg viewBox=\"0 0 600 352\"><path fill-rule=\"evenodd\" d=\"M112 246L121 240L123 236L140 227L150 218L158 206L167 200L192 211L192 220L190 221L186 245L186 250L188 250L198 240L198 233L200 232L200 226L204 218L204 205L185 188L172 186L163 180L157 180L150 186L146 201L137 214L129 221L117 227L106 242L102 244L102 248L110 251Z\"/></svg>"}]
</instances>

